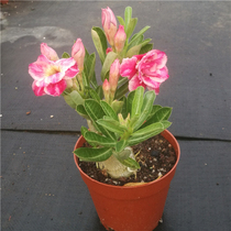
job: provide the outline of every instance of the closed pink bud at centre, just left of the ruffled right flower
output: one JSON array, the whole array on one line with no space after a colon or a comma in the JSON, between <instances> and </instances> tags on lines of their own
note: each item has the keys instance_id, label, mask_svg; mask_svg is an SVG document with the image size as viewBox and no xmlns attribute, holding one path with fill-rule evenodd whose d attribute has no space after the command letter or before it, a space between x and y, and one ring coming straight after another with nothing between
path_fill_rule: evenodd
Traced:
<instances>
[{"instance_id":1,"label":"closed pink bud at centre, just left of the ruffled right flower","mask_svg":"<svg viewBox=\"0 0 231 231\"><path fill-rule=\"evenodd\" d=\"M110 67L110 75L109 75L109 84L112 94L114 94L117 89L119 78L120 78L120 61L117 58Z\"/></svg>"}]
</instances>

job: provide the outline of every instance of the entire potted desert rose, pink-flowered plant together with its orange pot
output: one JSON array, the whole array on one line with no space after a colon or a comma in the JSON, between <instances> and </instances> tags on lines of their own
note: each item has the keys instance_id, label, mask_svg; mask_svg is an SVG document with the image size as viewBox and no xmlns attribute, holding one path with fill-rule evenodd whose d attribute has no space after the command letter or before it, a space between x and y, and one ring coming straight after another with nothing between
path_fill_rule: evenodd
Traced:
<instances>
[{"instance_id":1,"label":"entire potted desert rose, pink-flowered plant together with its orange pot","mask_svg":"<svg viewBox=\"0 0 231 231\"><path fill-rule=\"evenodd\" d=\"M119 28L111 9L102 9L103 30L91 29L102 65L102 85L96 79L96 55L87 52L80 38L73 45L72 56L64 53L61 59L42 43L42 55L29 65L29 74L34 79L32 89L36 96L63 96L87 120L88 128L81 127L74 158L101 223L107 230L153 230L162 218L179 160L178 143L166 130L172 108L153 105L161 84L168 78L167 56L153 50L151 38L144 40L150 26L133 34L138 19L132 18L131 7L125 8L124 19L118 16L118 20ZM140 151L134 152L135 145L160 133L158 138L174 153L174 164L168 163L167 173L154 169L154 165L146 166L152 169L151 179L139 182L143 160ZM82 170L82 163L94 163L96 170L111 182L127 180L127 184L100 183ZM157 176L152 178L154 173ZM128 183L128 179L133 180Z\"/></svg>"}]
</instances>

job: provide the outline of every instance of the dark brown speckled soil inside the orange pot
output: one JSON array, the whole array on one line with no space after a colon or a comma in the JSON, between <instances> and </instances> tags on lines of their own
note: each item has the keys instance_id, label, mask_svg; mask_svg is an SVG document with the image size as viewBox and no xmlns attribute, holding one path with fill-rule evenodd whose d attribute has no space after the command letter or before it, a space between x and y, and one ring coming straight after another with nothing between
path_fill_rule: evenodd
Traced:
<instances>
[{"instance_id":1,"label":"dark brown speckled soil inside the orange pot","mask_svg":"<svg viewBox=\"0 0 231 231\"><path fill-rule=\"evenodd\" d=\"M90 145L85 142L84 146ZM100 183L123 186L128 183L150 183L161 178L173 168L177 160L172 144L161 134L136 144L132 148L141 166L136 176L113 179L91 162L79 162L79 167L89 177Z\"/></svg>"}]
</instances>

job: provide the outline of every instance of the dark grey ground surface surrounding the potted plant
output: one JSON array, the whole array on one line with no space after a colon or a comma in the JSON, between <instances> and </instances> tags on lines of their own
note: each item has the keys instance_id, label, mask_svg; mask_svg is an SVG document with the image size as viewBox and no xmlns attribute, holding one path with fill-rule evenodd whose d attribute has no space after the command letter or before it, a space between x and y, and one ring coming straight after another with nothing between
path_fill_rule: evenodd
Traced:
<instances>
[{"instance_id":1,"label":"dark grey ground surface surrounding the potted plant","mask_svg":"<svg viewBox=\"0 0 231 231\"><path fill-rule=\"evenodd\" d=\"M131 6L136 32L151 25L145 37L168 56L169 79L156 103L174 108L169 131L179 141L182 160L156 231L229 231L231 3L217 1L1 6L2 230L103 230L73 161L85 120L63 98L35 97L28 65L36 61L42 42L61 56L81 37L95 52L90 29L101 26L107 6L116 15ZM98 79L100 68L98 61Z\"/></svg>"}]
</instances>

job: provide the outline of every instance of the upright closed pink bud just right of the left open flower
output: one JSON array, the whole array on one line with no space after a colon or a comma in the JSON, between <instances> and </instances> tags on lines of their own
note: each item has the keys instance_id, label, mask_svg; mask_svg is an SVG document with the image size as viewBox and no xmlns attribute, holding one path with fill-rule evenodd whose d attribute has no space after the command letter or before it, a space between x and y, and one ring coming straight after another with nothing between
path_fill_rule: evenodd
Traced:
<instances>
[{"instance_id":1,"label":"upright closed pink bud just right of the left open flower","mask_svg":"<svg viewBox=\"0 0 231 231\"><path fill-rule=\"evenodd\" d=\"M76 41L72 48L72 57L76 61L79 70L84 69L85 46L80 38Z\"/></svg>"}]
</instances>

